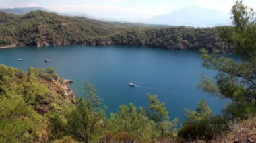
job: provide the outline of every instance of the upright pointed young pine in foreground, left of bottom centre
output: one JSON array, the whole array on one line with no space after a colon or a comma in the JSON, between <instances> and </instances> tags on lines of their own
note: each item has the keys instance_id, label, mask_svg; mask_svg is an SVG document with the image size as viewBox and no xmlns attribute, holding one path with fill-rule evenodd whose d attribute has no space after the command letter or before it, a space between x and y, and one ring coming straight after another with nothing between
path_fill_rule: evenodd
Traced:
<instances>
[{"instance_id":1,"label":"upright pointed young pine in foreground, left of bottom centre","mask_svg":"<svg viewBox=\"0 0 256 143\"><path fill-rule=\"evenodd\" d=\"M94 86L85 82L84 89L86 99L79 99L67 117L67 134L75 140L90 142L102 134L105 113L100 108L102 99L96 95Z\"/></svg>"}]
</instances>

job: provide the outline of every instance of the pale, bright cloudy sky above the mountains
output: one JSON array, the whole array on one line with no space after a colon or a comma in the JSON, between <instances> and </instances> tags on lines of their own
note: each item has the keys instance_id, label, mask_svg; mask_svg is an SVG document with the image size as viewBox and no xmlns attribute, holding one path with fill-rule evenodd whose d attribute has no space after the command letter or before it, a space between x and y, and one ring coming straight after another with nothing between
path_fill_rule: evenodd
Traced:
<instances>
[{"instance_id":1,"label":"pale, bright cloudy sky above the mountains","mask_svg":"<svg viewBox=\"0 0 256 143\"><path fill-rule=\"evenodd\" d=\"M229 13L234 3L235 0L0 0L0 7L44 7L61 13L84 13L97 18L136 21L187 6ZM243 3L256 9L256 0L243 0Z\"/></svg>"}]
</instances>

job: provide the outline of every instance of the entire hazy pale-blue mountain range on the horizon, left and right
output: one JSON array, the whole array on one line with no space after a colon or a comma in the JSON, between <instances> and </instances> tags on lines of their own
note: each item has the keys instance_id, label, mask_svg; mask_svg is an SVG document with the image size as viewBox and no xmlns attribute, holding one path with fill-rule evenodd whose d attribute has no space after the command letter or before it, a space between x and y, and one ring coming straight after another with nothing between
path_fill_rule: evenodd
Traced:
<instances>
[{"instance_id":1,"label":"entire hazy pale-blue mountain range on the horizon, left and right","mask_svg":"<svg viewBox=\"0 0 256 143\"><path fill-rule=\"evenodd\" d=\"M89 19L97 19L101 21L117 21L106 18L95 18L84 13L73 12L73 13L59 13L57 11L51 11L43 7L21 7L21 8L7 8L0 9L7 13L14 13L15 15L25 15L30 11L41 10L54 12L59 15L65 16L79 16L86 17ZM121 23L129 23L129 21L118 21ZM193 27L212 27L212 26L226 26L231 24L230 15L224 11L217 11L214 9L205 9L202 7L190 6L183 7L172 13L163 15L156 15L148 19L137 21L139 23L156 24L156 25L169 25L169 26L193 26Z\"/></svg>"}]
</instances>

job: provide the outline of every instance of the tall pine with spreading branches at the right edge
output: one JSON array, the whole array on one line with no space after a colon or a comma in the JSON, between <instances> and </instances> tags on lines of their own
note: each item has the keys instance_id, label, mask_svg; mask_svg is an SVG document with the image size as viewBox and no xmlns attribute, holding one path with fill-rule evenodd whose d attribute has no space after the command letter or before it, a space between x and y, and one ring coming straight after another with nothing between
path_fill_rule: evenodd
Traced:
<instances>
[{"instance_id":1,"label":"tall pine with spreading branches at the right edge","mask_svg":"<svg viewBox=\"0 0 256 143\"><path fill-rule=\"evenodd\" d=\"M220 36L232 44L241 62L220 56L219 50L208 54L201 50L203 66L218 71L216 82L203 77L199 87L231 103L224 109L224 116L244 118L256 115L256 17L253 9L236 1L232 7L234 26L220 28Z\"/></svg>"}]
</instances>

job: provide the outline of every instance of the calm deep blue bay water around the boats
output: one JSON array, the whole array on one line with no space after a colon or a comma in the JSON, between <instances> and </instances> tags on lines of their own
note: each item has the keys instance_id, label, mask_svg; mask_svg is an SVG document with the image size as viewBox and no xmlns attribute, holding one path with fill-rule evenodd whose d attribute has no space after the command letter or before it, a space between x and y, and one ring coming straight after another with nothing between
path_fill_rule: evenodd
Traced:
<instances>
[{"instance_id":1,"label":"calm deep blue bay water around the boats","mask_svg":"<svg viewBox=\"0 0 256 143\"><path fill-rule=\"evenodd\" d=\"M22 62L17 59L22 58ZM44 59L51 60L44 63ZM199 52L169 51L131 46L49 46L0 50L0 64L27 70L30 66L53 67L61 77L74 81L75 93L84 96L83 81L93 83L108 107L107 113L118 111L119 105L135 103L147 107L147 94L157 94L166 103L170 117L184 121L183 109L195 109L205 98L214 114L226 105L216 97L197 89L201 73L214 77L214 71L201 66ZM139 87L129 87L129 82Z\"/></svg>"}]
</instances>

